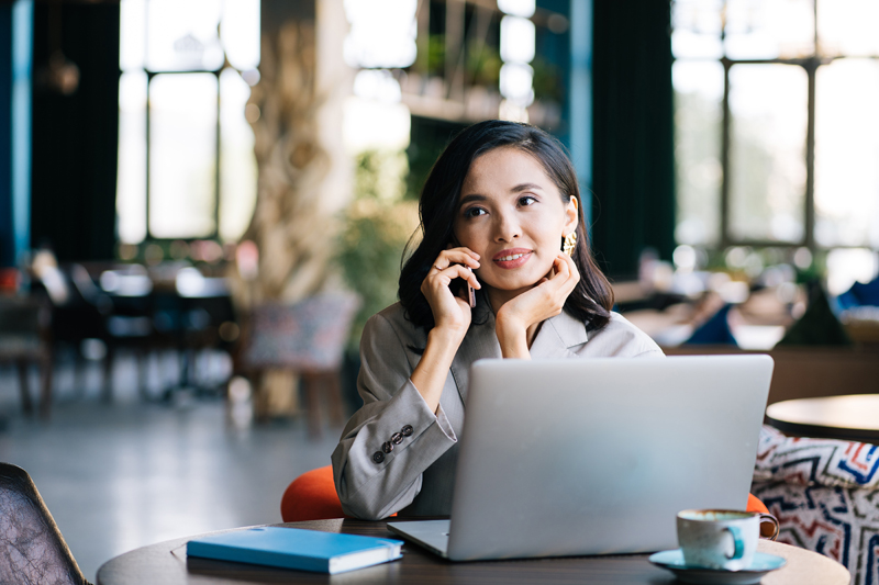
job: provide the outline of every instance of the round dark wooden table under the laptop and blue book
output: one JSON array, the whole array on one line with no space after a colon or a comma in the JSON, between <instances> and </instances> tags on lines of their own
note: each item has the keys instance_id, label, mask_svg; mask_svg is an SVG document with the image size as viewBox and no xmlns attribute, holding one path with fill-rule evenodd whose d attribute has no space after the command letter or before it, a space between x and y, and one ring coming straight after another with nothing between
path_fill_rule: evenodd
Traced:
<instances>
[{"instance_id":1,"label":"round dark wooden table under the laptop and blue book","mask_svg":"<svg viewBox=\"0 0 879 585\"><path fill-rule=\"evenodd\" d=\"M380 538L397 538L388 531L386 522L361 520L314 520L286 525L329 532L348 532ZM238 529L243 530L243 529ZM204 535L199 535L204 536ZM652 565L646 554L614 556L577 556L565 559L527 559L515 561L488 561L452 563L430 552L407 543L403 559L349 573L325 575L267 566L247 565L187 559L186 542L180 538L152 544L121 554L108 561L98 571L98 585L194 585L247 583L649 583L652 585L678 583L675 576ZM788 564L761 581L761 585L848 585L848 571L839 563L806 551L761 540L761 552L778 554Z\"/></svg>"}]
</instances>

